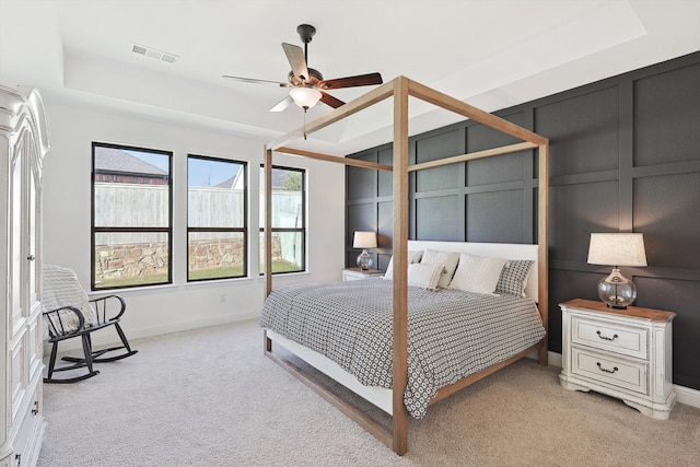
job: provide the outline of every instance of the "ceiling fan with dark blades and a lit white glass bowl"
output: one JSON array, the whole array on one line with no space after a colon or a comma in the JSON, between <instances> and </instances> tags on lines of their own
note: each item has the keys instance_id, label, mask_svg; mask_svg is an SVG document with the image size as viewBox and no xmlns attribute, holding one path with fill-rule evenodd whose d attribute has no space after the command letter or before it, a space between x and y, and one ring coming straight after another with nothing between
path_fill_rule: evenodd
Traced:
<instances>
[{"instance_id":1,"label":"ceiling fan with dark blades and a lit white glass bowl","mask_svg":"<svg viewBox=\"0 0 700 467\"><path fill-rule=\"evenodd\" d=\"M311 24L301 24L296 27L296 33L301 37L302 43L304 43L304 50L302 50L300 46L282 43L282 49L284 49L287 59L292 67L292 70L289 72L287 83L231 77L228 74L224 74L223 78L245 83L272 83L281 87L289 87L289 95L270 108L270 112L284 110L292 102L303 108L304 112L316 105L318 101L330 107L337 108L343 105L345 102L328 94L326 92L327 90L382 84L383 81L380 73L324 80L320 71L308 68L308 43L314 37L314 34L316 34L316 28Z\"/></svg>"}]
</instances>

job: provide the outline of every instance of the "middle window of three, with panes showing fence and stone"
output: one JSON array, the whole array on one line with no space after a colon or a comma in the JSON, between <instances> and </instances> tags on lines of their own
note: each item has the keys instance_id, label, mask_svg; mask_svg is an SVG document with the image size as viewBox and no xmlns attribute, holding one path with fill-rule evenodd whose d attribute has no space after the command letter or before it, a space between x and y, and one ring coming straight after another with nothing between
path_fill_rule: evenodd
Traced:
<instances>
[{"instance_id":1,"label":"middle window of three, with panes showing fence and stone","mask_svg":"<svg viewBox=\"0 0 700 467\"><path fill-rule=\"evenodd\" d=\"M187 280L247 276L246 163L187 157Z\"/></svg>"}]
</instances>

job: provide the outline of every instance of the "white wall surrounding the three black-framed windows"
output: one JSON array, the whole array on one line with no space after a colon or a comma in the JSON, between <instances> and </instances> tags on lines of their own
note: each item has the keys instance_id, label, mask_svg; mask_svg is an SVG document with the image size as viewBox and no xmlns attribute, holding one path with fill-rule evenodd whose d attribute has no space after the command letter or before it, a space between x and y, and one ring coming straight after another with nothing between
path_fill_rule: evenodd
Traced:
<instances>
[{"instance_id":1,"label":"white wall surrounding the three black-framed windows","mask_svg":"<svg viewBox=\"0 0 700 467\"><path fill-rule=\"evenodd\" d=\"M93 141L167 150L174 153L173 284L128 289L122 325L130 339L220 323L255 318L265 281L252 261L250 278L186 282L186 157L188 153L248 161L249 258L258 257L259 176L264 142L117 115L45 97L51 151L44 161L44 262L75 270L90 290L91 144ZM299 281L340 280L345 265L345 167L306 157L275 155L275 163L307 170L307 272L275 279L275 287ZM183 189L185 187L185 189ZM104 295L104 293L100 293ZM96 336L110 341L113 330Z\"/></svg>"}]
</instances>

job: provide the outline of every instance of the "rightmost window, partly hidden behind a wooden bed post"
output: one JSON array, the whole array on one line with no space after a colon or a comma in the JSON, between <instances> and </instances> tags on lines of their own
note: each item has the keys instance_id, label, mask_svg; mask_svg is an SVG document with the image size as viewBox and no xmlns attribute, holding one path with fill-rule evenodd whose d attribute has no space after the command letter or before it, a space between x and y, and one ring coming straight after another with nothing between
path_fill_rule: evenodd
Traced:
<instances>
[{"instance_id":1,"label":"rightmost window, partly hidden behind a wooden bed post","mask_svg":"<svg viewBox=\"0 0 700 467\"><path fill-rule=\"evenodd\" d=\"M305 171L272 167L272 273L306 270ZM260 273L265 272L265 167L260 170Z\"/></svg>"}]
</instances>

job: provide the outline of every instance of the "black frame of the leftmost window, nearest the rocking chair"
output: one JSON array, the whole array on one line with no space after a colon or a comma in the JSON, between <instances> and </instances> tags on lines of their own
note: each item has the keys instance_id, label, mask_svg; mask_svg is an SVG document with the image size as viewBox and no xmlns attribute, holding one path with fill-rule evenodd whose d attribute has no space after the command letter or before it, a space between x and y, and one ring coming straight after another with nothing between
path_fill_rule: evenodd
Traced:
<instances>
[{"instance_id":1,"label":"black frame of the leftmost window, nearest the rocking chair","mask_svg":"<svg viewBox=\"0 0 700 467\"><path fill-rule=\"evenodd\" d=\"M126 227L126 226L96 226L95 225L95 149L108 148L119 149L125 151L137 151L152 154L160 154L167 156L167 225L163 227ZM116 289L135 289L143 287L159 287L170 285L173 283L173 152L152 149L140 148L126 144L114 144L93 141L91 145L91 199L90 199L90 289L93 292L102 292ZM167 280L165 282L152 282L152 283L138 283L130 285L115 285L115 287L96 287L96 270L95 270L95 237L100 233L163 233L167 237Z\"/></svg>"}]
</instances>

